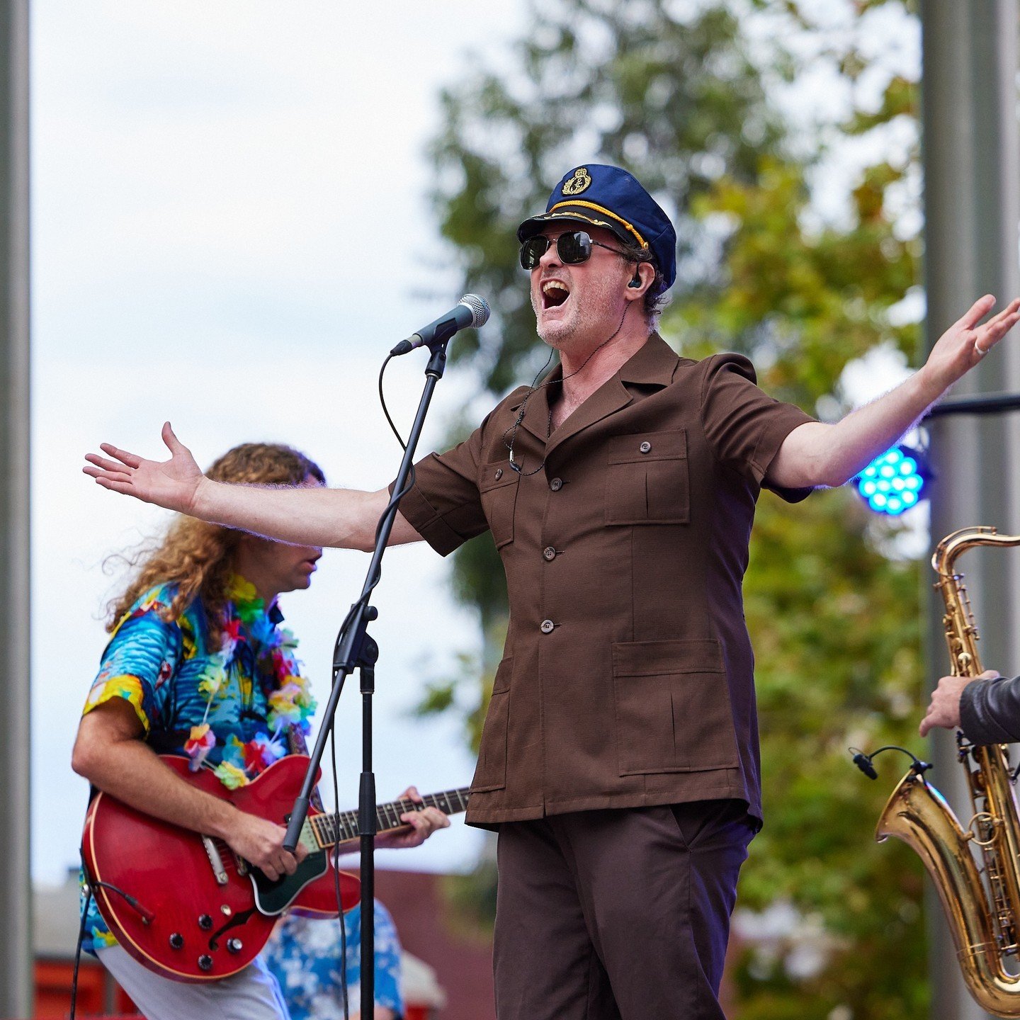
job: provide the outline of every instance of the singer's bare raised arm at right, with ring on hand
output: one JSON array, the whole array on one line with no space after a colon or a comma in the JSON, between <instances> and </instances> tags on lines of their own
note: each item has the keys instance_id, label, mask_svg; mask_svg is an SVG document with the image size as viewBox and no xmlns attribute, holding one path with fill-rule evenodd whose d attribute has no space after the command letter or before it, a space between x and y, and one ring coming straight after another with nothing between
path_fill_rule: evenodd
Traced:
<instances>
[{"instance_id":1,"label":"singer's bare raised arm at right, with ring on hand","mask_svg":"<svg viewBox=\"0 0 1020 1020\"><path fill-rule=\"evenodd\" d=\"M975 301L938 339L924 366L885 396L834 425L812 421L795 428L769 466L768 481L788 489L842 486L867 467L1020 321L1018 299L981 323L994 303L991 295Z\"/></svg>"}]
</instances>

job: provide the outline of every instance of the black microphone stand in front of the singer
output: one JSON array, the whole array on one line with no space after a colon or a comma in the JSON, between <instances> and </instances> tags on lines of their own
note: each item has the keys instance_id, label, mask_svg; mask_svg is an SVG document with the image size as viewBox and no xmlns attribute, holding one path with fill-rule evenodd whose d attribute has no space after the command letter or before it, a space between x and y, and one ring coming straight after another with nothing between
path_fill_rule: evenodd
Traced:
<instances>
[{"instance_id":1,"label":"black microphone stand in front of the singer","mask_svg":"<svg viewBox=\"0 0 1020 1020\"><path fill-rule=\"evenodd\" d=\"M301 829L304 826L305 818L308 815L308 805L315 787L319 763L322 761L322 755L325 751L326 736L334 725L334 716L337 712L341 692L344 688L344 681L355 668L358 668L362 696L361 781L358 787L358 832L361 845L361 1016L366 1020L374 1016L375 1012L375 860L373 855L377 822L375 775L372 772L371 698L375 692L374 667L375 660L378 658L378 646L367 633L368 623L378 616L378 610L374 606L368 605L368 599L381 576L382 553L386 551L394 521L397 519L400 501L405 495L404 490L410 476L414 451L425 422L425 414L432 399L432 391L436 389L436 384L443 377L446 368L447 344L457 329L453 323L444 323L444 325L450 326L449 332L444 328L438 329L437 336L427 345L431 356L425 367L425 386L421 394L421 401L418 404L414 424L411 426L411 432L407 439L404 457L400 462L400 470L397 473L397 480L394 482L393 496L375 529L375 549L368 566L361 597L351 606L351 611L347 614L347 619L337 636L333 659L333 688L325 707L324 722L315 741L311 761L308 763L308 771L305 773L301 793L294 802L294 809L288 820L287 835L284 838L284 847L294 853L298 840L301 838ZM341 961L341 967L344 967L346 961Z\"/></svg>"}]
</instances>

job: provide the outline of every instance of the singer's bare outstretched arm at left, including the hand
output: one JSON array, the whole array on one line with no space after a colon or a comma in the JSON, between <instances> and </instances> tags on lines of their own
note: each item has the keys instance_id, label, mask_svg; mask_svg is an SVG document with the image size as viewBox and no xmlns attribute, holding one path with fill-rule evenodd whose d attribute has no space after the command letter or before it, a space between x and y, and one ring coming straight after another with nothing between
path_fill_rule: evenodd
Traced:
<instances>
[{"instance_id":1,"label":"singer's bare outstretched arm at left, including the hand","mask_svg":"<svg viewBox=\"0 0 1020 1020\"><path fill-rule=\"evenodd\" d=\"M146 460L108 443L105 456L90 453L83 470L104 489L134 496L213 524L292 542L371 550L375 524L390 502L386 489L365 493L353 489L267 488L236 486L207 478L191 451L163 425L169 460ZM390 545L417 542L421 536L397 513Z\"/></svg>"}]
</instances>

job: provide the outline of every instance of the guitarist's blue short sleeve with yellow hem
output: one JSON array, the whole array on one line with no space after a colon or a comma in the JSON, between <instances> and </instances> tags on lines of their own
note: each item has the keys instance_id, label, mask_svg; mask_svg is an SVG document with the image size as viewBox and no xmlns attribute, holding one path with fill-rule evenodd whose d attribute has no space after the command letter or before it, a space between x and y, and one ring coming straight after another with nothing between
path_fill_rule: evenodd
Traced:
<instances>
[{"instance_id":1,"label":"guitarist's blue short sleeve with yellow hem","mask_svg":"<svg viewBox=\"0 0 1020 1020\"><path fill-rule=\"evenodd\" d=\"M173 673L181 650L181 628L163 619L169 604L166 590L156 589L124 614L103 652L83 715L121 698L149 732L156 716L157 691Z\"/></svg>"}]
</instances>

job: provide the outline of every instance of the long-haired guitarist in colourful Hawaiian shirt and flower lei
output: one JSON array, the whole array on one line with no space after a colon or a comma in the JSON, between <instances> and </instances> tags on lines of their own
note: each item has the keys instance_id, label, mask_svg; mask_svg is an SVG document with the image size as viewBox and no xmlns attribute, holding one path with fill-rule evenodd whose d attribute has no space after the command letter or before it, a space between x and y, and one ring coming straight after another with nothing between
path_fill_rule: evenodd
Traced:
<instances>
[{"instance_id":1,"label":"long-haired guitarist in colourful Hawaiian shirt and flower lei","mask_svg":"<svg viewBox=\"0 0 1020 1020\"><path fill-rule=\"evenodd\" d=\"M248 443L210 468L220 481L325 483L321 469L287 446ZM71 765L98 789L174 825L223 839L270 879L293 874L285 830L203 793L157 755L191 758L230 788L284 755L304 751L315 702L280 626L283 592L306 589L322 554L178 516L144 553L111 603L110 642L89 693ZM416 797L413 789L404 797ZM402 816L407 829L378 846L414 847L449 824L436 808ZM149 1020L286 1020L275 979L256 960L220 981L187 984L156 974L116 945L93 901L84 948L94 953Z\"/></svg>"}]
</instances>

